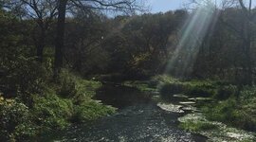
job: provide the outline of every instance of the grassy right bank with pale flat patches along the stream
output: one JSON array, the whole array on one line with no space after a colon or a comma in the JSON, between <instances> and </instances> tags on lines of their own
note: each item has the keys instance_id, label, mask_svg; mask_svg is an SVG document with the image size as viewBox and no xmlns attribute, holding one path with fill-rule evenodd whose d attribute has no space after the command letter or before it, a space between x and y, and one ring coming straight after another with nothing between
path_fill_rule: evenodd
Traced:
<instances>
[{"instance_id":1,"label":"grassy right bank with pale flat patches along the stream","mask_svg":"<svg viewBox=\"0 0 256 142\"><path fill-rule=\"evenodd\" d=\"M179 118L179 127L184 130L201 133L212 141L255 140L255 133L252 133L256 130L254 86L238 88L229 82L177 80L168 76L156 76L142 82L126 81L124 84L137 86L141 91L159 92L160 101L168 102L168 99L174 97L187 98L182 104L196 108L197 111Z\"/></svg>"}]
</instances>

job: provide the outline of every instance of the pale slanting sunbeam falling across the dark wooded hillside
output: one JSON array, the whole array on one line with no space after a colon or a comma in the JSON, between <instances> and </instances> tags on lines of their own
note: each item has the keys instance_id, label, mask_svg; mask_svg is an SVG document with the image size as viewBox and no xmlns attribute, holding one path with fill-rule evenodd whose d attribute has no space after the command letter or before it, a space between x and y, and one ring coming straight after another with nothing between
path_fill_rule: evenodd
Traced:
<instances>
[{"instance_id":1,"label":"pale slanting sunbeam falling across the dark wooded hillside","mask_svg":"<svg viewBox=\"0 0 256 142\"><path fill-rule=\"evenodd\" d=\"M184 77L192 72L199 48L207 34L215 26L218 12L212 2L198 5L179 32L179 42L165 73Z\"/></svg>"}]
</instances>

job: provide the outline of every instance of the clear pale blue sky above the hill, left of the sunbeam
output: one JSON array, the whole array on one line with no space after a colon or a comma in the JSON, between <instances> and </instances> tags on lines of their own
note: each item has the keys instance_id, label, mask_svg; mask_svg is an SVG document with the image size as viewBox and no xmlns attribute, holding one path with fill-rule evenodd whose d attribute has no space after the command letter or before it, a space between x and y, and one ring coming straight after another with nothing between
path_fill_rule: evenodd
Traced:
<instances>
[{"instance_id":1,"label":"clear pale blue sky above the hill, left of the sunbeam","mask_svg":"<svg viewBox=\"0 0 256 142\"><path fill-rule=\"evenodd\" d=\"M174 9L182 9L185 8L186 4L190 3L190 0L148 0L149 5L151 6L151 9L153 13L155 12L165 12L168 10L174 10ZM221 1L221 0L216 0ZM247 1L247 0L246 0ZM256 0L252 0L252 5L256 6Z\"/></svg>"}]
</instances>

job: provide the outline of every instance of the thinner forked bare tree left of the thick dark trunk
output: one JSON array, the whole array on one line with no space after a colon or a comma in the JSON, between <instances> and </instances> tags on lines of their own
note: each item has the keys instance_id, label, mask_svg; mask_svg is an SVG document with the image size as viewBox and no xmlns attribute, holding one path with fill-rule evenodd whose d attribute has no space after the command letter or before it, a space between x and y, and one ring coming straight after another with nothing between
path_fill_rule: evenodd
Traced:
<instances>
[{"instance_id":1,"label":"thinner forked bare tree left of the thick dark trunk","mask_svg":"<svg viewBox=\"0 0 256 142\"><path fill-rule=\"evenodd\" d=\"M5 8L12 10L23 19L32 18L39 31L34 35L39 62L43 62L46 32L57 14L57 3L52 0L4 0Z\"/></svg>"}]
</instances>

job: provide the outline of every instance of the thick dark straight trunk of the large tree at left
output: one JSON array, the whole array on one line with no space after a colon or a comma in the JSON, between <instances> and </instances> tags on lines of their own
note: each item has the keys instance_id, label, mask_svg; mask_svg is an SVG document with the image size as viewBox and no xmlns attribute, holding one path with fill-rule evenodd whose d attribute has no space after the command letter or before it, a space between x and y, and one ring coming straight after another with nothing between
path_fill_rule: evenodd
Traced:
<instances>
[{"instance_id":1,"label":"thick dark straight trunk of the large tree at left","mask_svg":"<svg viewBox=\"0 0 256 142\"><path fill-rule=\"evenodd\" d=\"M64 22L67 0L59 0L57 35L55 44L54 76L57 76L63 67L64 54Z\"/></svg>"}]
</instances>

